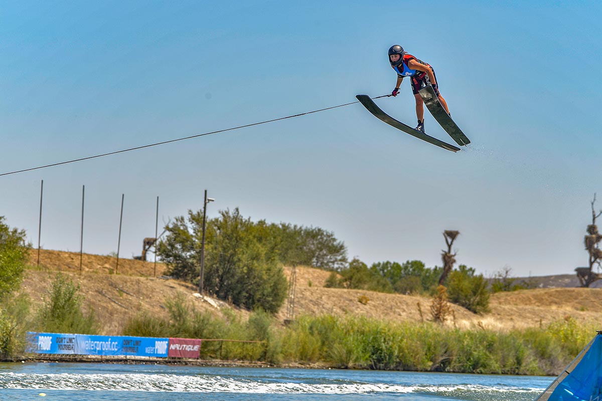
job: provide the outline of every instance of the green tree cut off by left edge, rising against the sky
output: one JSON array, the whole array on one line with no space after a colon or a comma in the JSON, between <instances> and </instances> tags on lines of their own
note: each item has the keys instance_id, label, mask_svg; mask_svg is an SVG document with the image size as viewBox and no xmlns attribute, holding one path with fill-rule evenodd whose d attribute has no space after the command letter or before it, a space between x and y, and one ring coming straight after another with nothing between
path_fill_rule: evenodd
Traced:
<instances>
[{"instance_id":1,"label":"green tree cut off by left edge, rising against the sky","mask_svg":"<svg viewBox=\"0 0 602 401\"><path fill-rule=\"evenodd\" d=\"M19 288L28 256L25 230L8 227L0 216L0 298Z\"/></svg>"}]
</instances>

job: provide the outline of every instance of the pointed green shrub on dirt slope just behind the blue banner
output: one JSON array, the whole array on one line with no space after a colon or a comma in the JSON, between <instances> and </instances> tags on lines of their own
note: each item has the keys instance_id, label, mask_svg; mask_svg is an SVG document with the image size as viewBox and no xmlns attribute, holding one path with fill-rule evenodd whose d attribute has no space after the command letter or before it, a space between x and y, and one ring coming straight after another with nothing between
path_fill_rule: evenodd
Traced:
<instances>
[{"instance_id":1,"label":"pointed green shrub on dirt slope just behind the blue banner","mask_svg":"<svg viewBox=\"0 0 602 401\"><path fill-rule=\"evenodd\" d=\"M79 285L69 277L57 274L44 297L37 317L39 331L96 334L97 324L92 310L82 311Z\"/></svg>"}]
</instances>

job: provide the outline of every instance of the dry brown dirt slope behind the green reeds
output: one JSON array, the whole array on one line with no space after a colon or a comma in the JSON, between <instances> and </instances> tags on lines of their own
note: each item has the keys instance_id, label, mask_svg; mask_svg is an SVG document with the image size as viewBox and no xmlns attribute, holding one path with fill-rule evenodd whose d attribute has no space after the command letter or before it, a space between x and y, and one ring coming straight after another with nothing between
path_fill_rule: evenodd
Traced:
<instances>
[{"instance_id":1,"label":"dry brown dirt slope behind the green reeds","mask_svg":"<svg viewBox=\"0 0 602 401\"><path fill-rule=\"evenodd\" d=\"M32 251L31 259L36 266L37 250ZM79 284L84 304L104 322L100 334L107 335L120 334L128 319L143 311L165 316L166 300L178 293L190 299L199 310L219 314L223 308L229 308L243 319L249 314L217 299L193 296L198 289L190 284L158 278L165 271L162 263L157 263L156 268L154 263L140 260L120 259L119 268L116 263L113 257L84 254L80 273L78 253L42 249L40 268L26 271L22 291L28 293L34 305L40 305L57 272L69 275ZM290 268L285 268L287 278L290 272ZM294 316L357 314L393 322L430 320L431 299L424 296L329 289L324 287L329 272L303 266L296 268L296 276ZM359 302L362 296L368 299L366 304ZM566 316L584 323L602 323L602 289L597 288L541 288L497 293L491 296L489 305L491 312L483 315L453 305L455 318L447 324L507 330L546 325ZM285 302L276 314L281 322L290 317L287 309ZM602 328L602 324L600 326Z\"/></svg>"}]
</instances>

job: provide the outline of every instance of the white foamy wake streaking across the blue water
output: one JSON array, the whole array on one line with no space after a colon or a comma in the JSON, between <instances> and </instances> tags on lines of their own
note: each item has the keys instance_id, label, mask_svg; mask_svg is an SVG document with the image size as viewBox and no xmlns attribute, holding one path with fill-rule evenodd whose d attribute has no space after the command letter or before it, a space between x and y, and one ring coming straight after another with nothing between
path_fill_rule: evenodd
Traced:
<instances>
[{"instance_id":1,"label":"white foamy wake streaking across the blue water","mask_svg":"<svg viewBox=\"0 0 602 401\"><path fill-rule=\"evenodd\" d=\"M12 390L88 390L88 391L165 391L190 393L247 394L371 394L422 393L462 399L532 399L542 388L517 388L507 385L399 385L332 381L300 382L256 381L209 375L146 375L73 373L0 373L0 389Z\"/></svg>"}]
</instances>

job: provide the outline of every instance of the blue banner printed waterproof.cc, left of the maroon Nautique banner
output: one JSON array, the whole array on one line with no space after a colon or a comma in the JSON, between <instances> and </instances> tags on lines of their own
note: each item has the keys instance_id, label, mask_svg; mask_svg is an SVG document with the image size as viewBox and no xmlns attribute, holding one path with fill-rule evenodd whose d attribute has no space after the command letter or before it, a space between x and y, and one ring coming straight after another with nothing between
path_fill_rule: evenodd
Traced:
<instances>
[{"instance_id":1,"label":"blue banner printed waterproof.cc, left of the maroon Nautique banner","mask_svg":"<svg viewBox=\"0 0 602 401\"><path fill-rule=\"evenodd\" d=\"M167 357L168 338L28 332L28 351L37 354Z\"/></svg>"}]
</instances>

